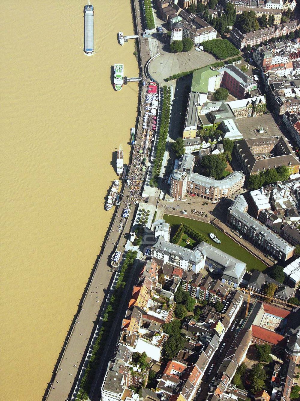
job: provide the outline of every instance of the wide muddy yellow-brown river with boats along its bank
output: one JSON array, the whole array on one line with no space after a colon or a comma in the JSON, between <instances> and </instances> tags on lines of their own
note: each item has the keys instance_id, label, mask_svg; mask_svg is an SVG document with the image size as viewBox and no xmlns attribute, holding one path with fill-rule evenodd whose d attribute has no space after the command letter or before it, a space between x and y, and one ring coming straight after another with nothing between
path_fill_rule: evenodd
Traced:
<instances>
[{"instance_id":1,"label":"wide muddy yellow-brown river with boats along its bank","mask_svg":"<svg viewBox=\"0 0 300 401\"><path fill-rule=\"evenodd\" d=\"M137 83L116 92L111 65L137 76L130 0L2 2L0 399L40 400L112 211L112 152L129 155Z\"/></svg>"}]
</instances>

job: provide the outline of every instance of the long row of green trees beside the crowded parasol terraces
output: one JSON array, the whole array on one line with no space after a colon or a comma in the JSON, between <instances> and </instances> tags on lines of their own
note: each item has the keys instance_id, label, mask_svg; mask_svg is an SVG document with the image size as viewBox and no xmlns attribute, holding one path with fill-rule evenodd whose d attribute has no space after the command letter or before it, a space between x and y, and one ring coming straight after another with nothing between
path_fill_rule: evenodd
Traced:
<instances>
[{"instance_id":1,"label":"long row of green trees beside the crowded parasol terraces","mask_svg":"<svg viewBox=\"0 0 300 401\"><path fill-rule=\"evenodd\" d=\"M158 176L162 168L162 160L166 150L166 142L170 124L170 105L171 105L171 89L163 87L162 115L160 118L160 128L158 143L156 146L155 160L152 169L152 178L149 182L150 186L158 186Z\"/></svg>"}]
</instances>

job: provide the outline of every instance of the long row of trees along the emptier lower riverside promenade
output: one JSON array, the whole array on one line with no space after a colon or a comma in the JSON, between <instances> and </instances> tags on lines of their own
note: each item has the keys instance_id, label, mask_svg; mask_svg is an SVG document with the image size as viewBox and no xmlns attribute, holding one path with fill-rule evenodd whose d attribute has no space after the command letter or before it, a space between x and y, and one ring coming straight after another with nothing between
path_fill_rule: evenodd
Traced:
<instances>
[{"instance_id":1,"label":"long row of trees along the emptier lower riverside promenade","mask_svg":"<svg viewBox=\"0 0 300 401\"><path fill-rule=\"evenodd\" d=\"M124 287L126 286L126 279L129 273L129 269L134 263L137 252L128 251L122 265L118 281L114 289L113 295L110 297L110 302L103 315L103 323L100 328L99 335L95 341L92 355L88 361L88 366L80 382L79 390L77 393L77 400L87 400L90 387L94 380L94 375L99 367L102 351L105 349L105 342L109 337L110 330L114 321L116 310L118 310L120 300L123 296Z\"/></svg>"}]
</instances>

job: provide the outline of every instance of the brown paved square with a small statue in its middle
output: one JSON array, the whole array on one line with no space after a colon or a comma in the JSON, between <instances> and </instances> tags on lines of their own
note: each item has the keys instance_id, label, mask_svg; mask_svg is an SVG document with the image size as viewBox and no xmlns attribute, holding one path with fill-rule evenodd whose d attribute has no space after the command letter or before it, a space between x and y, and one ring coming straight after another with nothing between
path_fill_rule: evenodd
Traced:
<instances>
[{"instance_id":1,"label":"brown paved square with a small statue in its middle","mask_svg":"<svg viewBox=\"0 0 300 401\"><path fill-rule=\"evenodd\" d=\"M244 139L282 135L281 130L270 113L257 115L256 117L236 119L235 122L240 132L242 132ZM264 128L263 134L259 133L260 127Z\"/></svg>"}]
</instances>

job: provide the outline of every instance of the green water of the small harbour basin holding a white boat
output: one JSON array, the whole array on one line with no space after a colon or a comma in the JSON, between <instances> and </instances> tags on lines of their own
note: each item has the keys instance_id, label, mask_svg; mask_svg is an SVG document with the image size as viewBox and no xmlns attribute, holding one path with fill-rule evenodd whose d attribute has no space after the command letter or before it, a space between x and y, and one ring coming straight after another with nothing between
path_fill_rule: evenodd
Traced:
<instances>
[{"instance_id":1,"label":"green water of the small harbour basin holding a white boat","mask_svg":"<svg viewBox=\"0 0 300 401\"><path fill-rule=\"evenodd\" d=\"M246 263L248 271L252 270L264 271L268 267L260 260L258 260L256 257L254 257L250 252L246 251L246 249L239 246L238 243L233 241L233 239L228 237L226 234L222 233L218 229L216 231L215 227L212 226L211 224L203 223L202 221L198 220L186 219L185 217L171 216L171 215L164 215L164 219L171 226L171 238L176 233L178 226L181 223L185 223L190 227L194 228L195 230L197 230L199 233L205 235L206 237L208 237L208 233L210 232L216 233L216 236L220 239L221 243L218 245L208 237L210 243L214 247L221 249L221 251L224 251L229 255L236 257L237 259L240 259L241 261ZM180 241L179 245L187 247L187 244L183 240Z\"/></svg>"}]
</instances>

